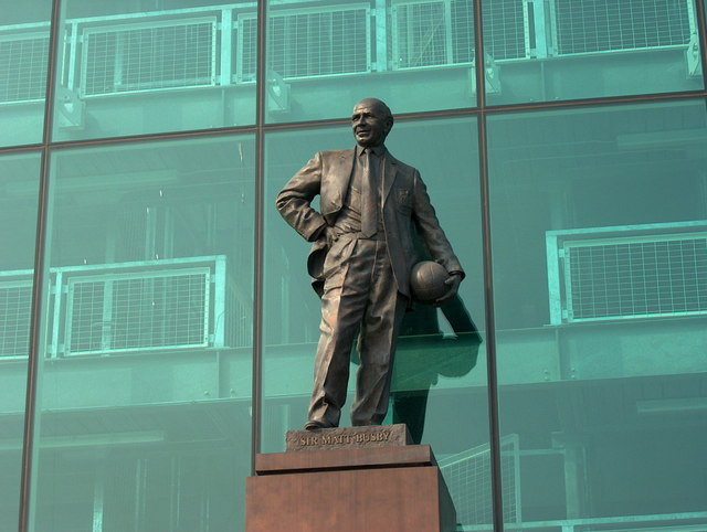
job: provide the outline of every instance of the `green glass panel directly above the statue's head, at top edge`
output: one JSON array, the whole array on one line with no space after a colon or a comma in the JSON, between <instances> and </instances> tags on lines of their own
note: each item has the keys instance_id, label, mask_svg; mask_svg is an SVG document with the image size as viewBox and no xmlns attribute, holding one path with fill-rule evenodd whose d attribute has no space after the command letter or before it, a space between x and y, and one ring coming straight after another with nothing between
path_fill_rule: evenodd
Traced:
<instances>
[{"instance_id":1,"label":"green glass panel directly above the statue's head, at top edge","mask_svg":"<svg viewBox=\"0 0 707 532\"><path fill-rule=\"evenodd\" d=\"M374 96L397 113L475 104L472 0L268 2L272 123L348 116ZM255 50L243 20L243 53ZM253 78L255 62L244 64Z\"/></svg>"}]
</instances>

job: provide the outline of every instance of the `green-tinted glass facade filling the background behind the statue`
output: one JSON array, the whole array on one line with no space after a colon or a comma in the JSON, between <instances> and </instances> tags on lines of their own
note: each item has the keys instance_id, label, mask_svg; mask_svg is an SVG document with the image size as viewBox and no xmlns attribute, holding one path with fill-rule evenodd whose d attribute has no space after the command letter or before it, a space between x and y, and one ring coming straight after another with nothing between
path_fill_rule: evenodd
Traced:
<instances>
[{"instance_id":1,"label":"green-tinted glass facade filling the background behind the statue","mask_svg":"<svg viewBox=\"0 0 707 532\"><path fill-rule=\"evenodd\" d=\"M275 195L367 96L467 274L387 418L457 530L707 528L706 3L1 0L0 530L244 529L319 334Z\"/></svg>"}]
</instances>

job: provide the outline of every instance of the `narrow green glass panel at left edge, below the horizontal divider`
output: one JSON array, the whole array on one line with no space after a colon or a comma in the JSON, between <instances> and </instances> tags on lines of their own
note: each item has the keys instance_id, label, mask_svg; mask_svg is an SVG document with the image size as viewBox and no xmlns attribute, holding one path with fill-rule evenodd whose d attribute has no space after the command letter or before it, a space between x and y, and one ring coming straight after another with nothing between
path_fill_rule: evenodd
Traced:
<instances>
[{"instance_id":1,"label":"narrow green glass panel at left edge, below the horizontal divider","mask_svg":"<svg viewBox=\"0 0 707 532\"><path fill-rule=\"evenodd\" d=\"M0 530L17 530L40 153L0 157Z\"/></svg>"}]
</instances>

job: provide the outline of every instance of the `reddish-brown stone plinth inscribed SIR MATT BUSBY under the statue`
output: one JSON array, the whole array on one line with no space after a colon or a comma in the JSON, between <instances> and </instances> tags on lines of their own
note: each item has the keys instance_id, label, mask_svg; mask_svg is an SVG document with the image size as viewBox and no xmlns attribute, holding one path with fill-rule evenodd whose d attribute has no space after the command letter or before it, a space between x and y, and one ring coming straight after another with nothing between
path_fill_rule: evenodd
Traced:
<instances>
[{"instance_id":1,"label":"reddish-brown stone plinth inscribed SIR MATT BUSBY under the statue","mask_svg":"<svg viewBox=\"0 0 707 532\"><path fill-rule=\"evenodd\" d=\"M256 455L246 531L453 532L456 513L432 449L388 444L400 437L391 427L293 430L288 447L292 437L298 451Z\"/></svg>"}]
</instances>

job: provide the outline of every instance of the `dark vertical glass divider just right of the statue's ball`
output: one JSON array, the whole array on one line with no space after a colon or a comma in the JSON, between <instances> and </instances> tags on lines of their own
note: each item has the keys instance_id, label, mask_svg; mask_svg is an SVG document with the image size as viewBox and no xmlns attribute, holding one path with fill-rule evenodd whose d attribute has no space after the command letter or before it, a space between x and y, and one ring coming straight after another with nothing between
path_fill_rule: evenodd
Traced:
<instances>
[{"instance_id":1,"label":"dark vertical glass divider just right of the statue's ball","mask_svg":"<svg viewBox=\"0 0 707 532\"><path fill-rule=\"evenodd\" d=\"M488 383L488 436L494 530L504 530L503 486L500 468L500 429L498 419L498 377L496 371L496 326L494 321L494 286L490 243L490 200L488 191L488 150L486 131L486 64L482 0L474 0L474 49L476 106L478 107L478 164L482 200L482 243L484 257L484 300L486 319L486 372Z\"/></svg>"}]
</instances>

